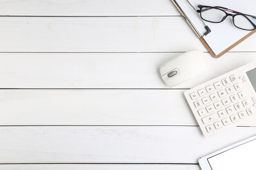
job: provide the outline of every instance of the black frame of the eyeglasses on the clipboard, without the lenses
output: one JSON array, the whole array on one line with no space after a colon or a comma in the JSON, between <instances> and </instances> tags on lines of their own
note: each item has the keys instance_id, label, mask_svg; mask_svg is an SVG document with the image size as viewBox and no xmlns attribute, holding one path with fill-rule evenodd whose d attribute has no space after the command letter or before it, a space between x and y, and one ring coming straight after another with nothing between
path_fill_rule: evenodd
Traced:
<instances>
[{"instance_id":1,"label":"black frame of the eyeglasses on the clipboard, without the lenses","mask_svg":"<svg viewBox=\"0 0 256 170\"><path fill-rule=\"evenodd\" d=\"M223 12L226 14L226 16L225 16L224 18L222 18L222 20L220 20L219 22L213 22L213 21L206 20L206 19L202 18L202 8L203 8L203 7L218 9L218 10L220 10L220 11L223 11ZM235 16L242 15L242 16L245 16L245 17L246 17L246 16L250 16L250 17L252 17L252 18L256 18L256 16L248 15L248 14L245 14L245 13L240 13L240 12L238 12L238 11L234 11L234 10L232 10L232 9L228 9L228 8L225 8L225 7L219 7L219 6L211 7L211 6L205 6L205 5L200 5L200 4L199 4L199 5L198 5L198 8L199 8L199 10L196 10L196 11L197 11L198 13L200 13L200 16L201 16L201 18L202 18L203 20L208 21L208 22L213 22L213 23L220 23L220 22L224 21L224 20L227 18L227 16L232 16L232 21L233 21L234 26L237 27L237 28L239 28L239 29L243 29L243 28L240 28L240 27L238 27L238 26L235 25L235 21L234 21L234 17L235 17ZM207 10L208 10L208 9L207 9ZM233 12L233 13L236 13L236 14L227 13L225 10L229 10L229 12ZM246 17L246 18L247 18L247 17ZM255 25L249 18L247 18L247 20L249 20L249 22L254 26L254 29L256 29L256 25ZM254 29L243 29L243 30L252 31L252 30L254 30Z\"/></svg>"}]
</instances>

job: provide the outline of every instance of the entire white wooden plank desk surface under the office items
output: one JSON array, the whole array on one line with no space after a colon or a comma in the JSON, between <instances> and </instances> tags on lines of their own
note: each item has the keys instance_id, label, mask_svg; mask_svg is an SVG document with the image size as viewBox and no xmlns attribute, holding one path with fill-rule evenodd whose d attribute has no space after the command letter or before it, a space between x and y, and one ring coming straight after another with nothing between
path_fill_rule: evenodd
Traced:
<instances>
[{"instance_id":1,"label":"entire white wooden plank desk surface under the office items","mask_svg":"<svg viewBox=\"0 0 256 170\"><path fill-rule=\"evenodd\" d=\"M0 170L199 170L256 134L204 138L186 89L256 60L256 34L210 56L170 0L0 0ZM169 89L159 67L204 51L202 76Z\"/></svg>"}]
</instances>

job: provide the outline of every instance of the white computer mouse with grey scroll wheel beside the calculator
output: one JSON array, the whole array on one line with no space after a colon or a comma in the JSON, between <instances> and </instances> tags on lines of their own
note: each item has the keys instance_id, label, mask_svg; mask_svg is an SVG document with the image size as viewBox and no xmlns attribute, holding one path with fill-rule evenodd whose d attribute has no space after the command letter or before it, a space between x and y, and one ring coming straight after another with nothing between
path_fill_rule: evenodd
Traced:
<instances>
[{"instance_id":1,"label":"white computer mouse with grey scroll wheel beside the calculator","mask_svg":"<svg viewBox=\"0 0 256 170\"><path fill-rule=\"evenodd\" d=\"M168 87L198 76L207 69L202 51L195 49L168 61L160 67L160 74Z\"/></svg>"}]
</instances>

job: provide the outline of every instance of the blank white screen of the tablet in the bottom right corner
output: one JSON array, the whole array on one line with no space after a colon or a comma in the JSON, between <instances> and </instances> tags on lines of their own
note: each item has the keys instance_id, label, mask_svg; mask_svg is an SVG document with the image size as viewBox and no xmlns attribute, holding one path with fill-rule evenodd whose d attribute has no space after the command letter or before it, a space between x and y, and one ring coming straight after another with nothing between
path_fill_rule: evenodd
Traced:
<instances>
[{"instance_id":1,"label":"blank white screen of the tablet in the bottom right corner","mask_svg":"<svg viewBox=\"0 0 256 170\"><path fill-rule=\"evenodd\" d=\"M212 170L256 170L256 139L207 160Z\"/></svg>"}]
</instances>

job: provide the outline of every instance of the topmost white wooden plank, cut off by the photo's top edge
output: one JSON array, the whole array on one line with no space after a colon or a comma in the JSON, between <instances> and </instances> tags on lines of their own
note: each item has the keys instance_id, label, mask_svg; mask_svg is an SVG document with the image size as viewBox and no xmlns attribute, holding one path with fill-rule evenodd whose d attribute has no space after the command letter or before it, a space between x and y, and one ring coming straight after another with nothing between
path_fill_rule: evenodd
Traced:
<instances>
[{"instance_id":1,"label":"topmost white wooden plank, cut off by the photo's top edge","mask_svg":"<svg viewBox=\"0 0 256 170\"><path fill-rule=\"evenodd\" d=\"M172 16L171 0L0 1L1 16Z\"/></svg>"}]
</instances>

